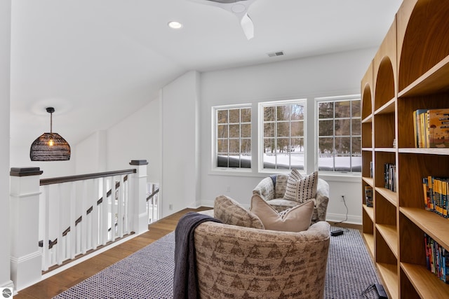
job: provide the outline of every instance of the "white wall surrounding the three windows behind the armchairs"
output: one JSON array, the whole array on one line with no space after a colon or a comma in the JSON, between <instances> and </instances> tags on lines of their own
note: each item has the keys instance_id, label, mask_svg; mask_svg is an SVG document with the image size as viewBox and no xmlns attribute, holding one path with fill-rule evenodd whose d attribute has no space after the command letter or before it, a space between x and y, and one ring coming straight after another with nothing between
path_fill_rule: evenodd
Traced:
<instances>
[{"instance_id":1,"label":"white wall surrounding the three windows behind the armchairs","mask_svg":"<svg viewBox=\"0 0 449 299\"><path fill-rule=\"evenodd\" d=\"M360 81L375 54L374 48L300 60L260 64L251 67L210 71L201 74L201 204L213 206L217 195L228 195L249 207L253 188L267 174L235 176L211 172L211 107L225 104L253 105L253 134L257 134L257 102L307 97L308 113L314 97L353 95L360 93ZM312 106L312 107L311 107ZM313 113L311 114L314 115ZM307 134L314 134L307 119ZM308 144L307 150L314 151ZM253 144L253 153L257 144ZM253 157L253 165L257 156ZM306 172L314 171L314 160L307 161ZM361 223L361 179L321 176L330 184L328 220L345 218L346 207L340 201L344 194L349 221ZM230 192L228 192L228 186Z\"/></svg>"}]
</instances>

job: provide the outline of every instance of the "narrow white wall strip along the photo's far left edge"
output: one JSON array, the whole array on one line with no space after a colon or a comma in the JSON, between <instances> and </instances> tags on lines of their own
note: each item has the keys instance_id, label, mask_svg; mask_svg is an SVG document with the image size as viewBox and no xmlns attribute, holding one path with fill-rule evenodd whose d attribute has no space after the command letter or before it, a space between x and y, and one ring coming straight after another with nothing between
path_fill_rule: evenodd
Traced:
<instances>
[{"instance_id":1,"label":"narrow white wall strip along the photo's far left edge","mask_svg":"<svg viewBox=\"0 0 449 299\"><path fill-rule=\"evenodd\" d=\"M11 0L0 1L0 287L12 287L9 238Z\"/></svg>"}]
</instances>

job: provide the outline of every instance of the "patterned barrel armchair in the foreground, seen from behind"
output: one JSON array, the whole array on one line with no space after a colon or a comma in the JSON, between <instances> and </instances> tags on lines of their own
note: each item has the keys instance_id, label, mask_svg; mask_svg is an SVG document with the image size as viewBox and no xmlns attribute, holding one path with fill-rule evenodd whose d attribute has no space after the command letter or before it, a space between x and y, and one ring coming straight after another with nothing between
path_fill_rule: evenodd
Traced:
<instances>
[{"instance_id":1,"label":"patterned barrel armchair in the foreground, seen from behind","mask_svg":"<svg viewBox=\"0 0 449 299\"><path fill-rule=\"evenodd\" d=\"M194 236L200 298L323 298L329 228L324 221L303 232L201 223Z\"/></svg>"}]
</instances>

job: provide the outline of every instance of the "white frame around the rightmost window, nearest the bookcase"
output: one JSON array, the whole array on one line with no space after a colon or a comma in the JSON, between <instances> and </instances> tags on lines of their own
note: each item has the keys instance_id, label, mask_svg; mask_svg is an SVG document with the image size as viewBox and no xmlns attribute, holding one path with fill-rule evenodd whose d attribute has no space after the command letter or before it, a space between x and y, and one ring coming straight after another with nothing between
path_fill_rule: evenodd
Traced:
<instances>
[{"instance_id":1,"label":"white frame around the rightmost window, nearest the bookcase","mask_svg":"<svg viewBox=\"0 0 449 299\"><path fill-rule=\"evenodd\" d=\"M316 169L319 169L319 103L321 102L343 102L347 100L361 100L361 95L342 95L342 96L334 96L334 97L316 97L315 98L315 165ZM351 116L352 118L352 116ZM335 135L334 135L335 138ZM351 149L352 153L352 149ZM334 164L335 165L335 164ZM351 165L350 165L351 166ZM335 174L335 175L352 175L352 176L361 176L361 172L338 172L338 171L326 171L319 170L323 174Z\"/></svg>"}]
</instances>

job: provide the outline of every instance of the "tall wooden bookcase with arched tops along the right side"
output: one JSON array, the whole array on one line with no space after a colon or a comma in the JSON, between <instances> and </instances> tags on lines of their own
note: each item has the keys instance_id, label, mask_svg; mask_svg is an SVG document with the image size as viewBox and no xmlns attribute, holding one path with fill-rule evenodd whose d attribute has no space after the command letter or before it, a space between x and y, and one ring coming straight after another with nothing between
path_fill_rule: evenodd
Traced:
<instances>
[{"instance_id":1,"label":"tall wooden bookcase with arched tops along the right side","mask_svg":"<svg viewBox=\"0 0 449 299\"><path fill-rule=\"evenodd\" d=\"M449 1L404 0L361 81L363 238L389 298L449 298L424 251L424 233L449 249L449 219L424 209L422 190L424 176L449 177L449 148L415 148L413 135L413 111L449 108L448 15Z\"/></svg>"}]
</instances>

